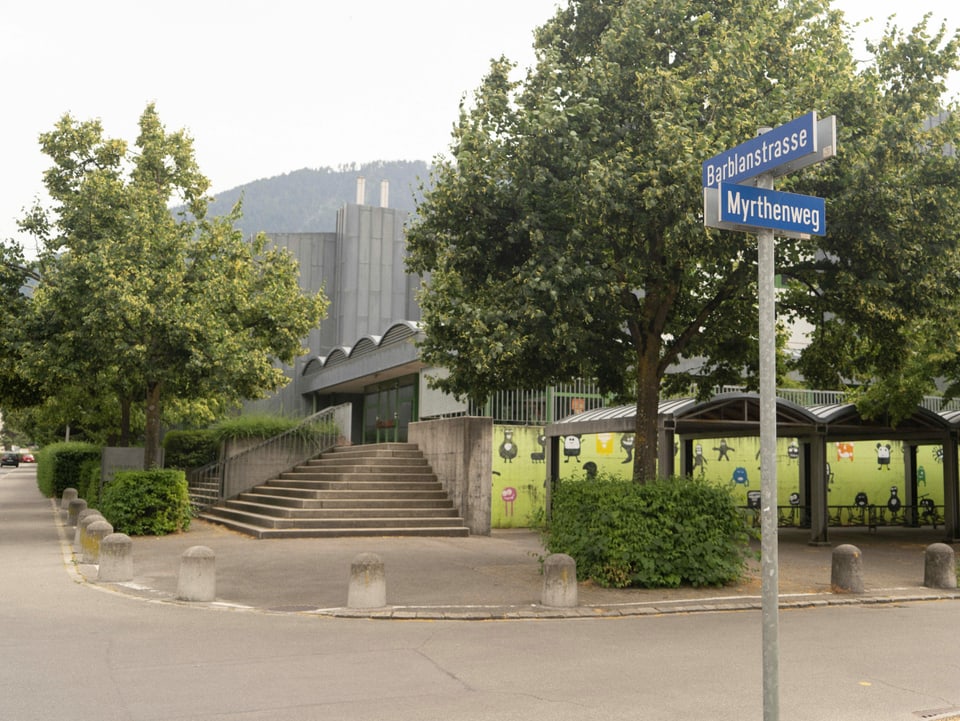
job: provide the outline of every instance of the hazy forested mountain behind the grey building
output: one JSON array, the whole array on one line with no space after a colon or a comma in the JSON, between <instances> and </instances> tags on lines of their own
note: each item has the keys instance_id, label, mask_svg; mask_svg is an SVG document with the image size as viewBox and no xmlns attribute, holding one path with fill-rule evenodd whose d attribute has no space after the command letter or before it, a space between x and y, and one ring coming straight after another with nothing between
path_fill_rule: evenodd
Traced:
<instances>
[{"instance_id":1,"label":"hazy forested mountain behind the grey building","mask_svg":"<svg viewBox=\"0 0 960 721\"><path fill-rule=\"evenodd\" d=\"M364 202L380 205L380 182L389 182L387 206L413 213L420 186L430 179L430 167L420 160L377 161L365 165L294 170L255 180L215 194L209 216L227 215L243 199L237 227L244 236L270 233L322 233L336 230L337 211L357 202L357 178L366 187Z\"/></svg>"}]
</instances>

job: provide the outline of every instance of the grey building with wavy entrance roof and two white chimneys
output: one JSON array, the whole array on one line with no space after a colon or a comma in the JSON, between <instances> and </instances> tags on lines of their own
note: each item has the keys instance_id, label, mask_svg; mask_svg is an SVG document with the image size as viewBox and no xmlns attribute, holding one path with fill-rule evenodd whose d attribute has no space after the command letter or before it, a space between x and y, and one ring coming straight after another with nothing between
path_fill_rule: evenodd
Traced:
<instances>
[{"instance_id":1,"label":"grey building with wavy entrance roof and two white chimneys","mask_svg":"<svg viewBox=\"0 0 960 721\"><path fill-rule=\"evenodd\" d=\"M493 416L529 425L561 418L603 404L590 384L542 392L507 394L485 408L428 387L444 373L419 359L423 337L416 292L420 278L407 273L404 224L407 214L390 208L389 188L380 186L380 204L368 205L363 179L357 202L337 213L329 233L267 233L299 263L305 291L322 288L328 316L305 339L307 354L285 367L289 383L269 398L245 404L244 412L293 417L340 405L353 405L353 443L406 441L409 425L449 416Z\"/></svg>"}]
</instances>

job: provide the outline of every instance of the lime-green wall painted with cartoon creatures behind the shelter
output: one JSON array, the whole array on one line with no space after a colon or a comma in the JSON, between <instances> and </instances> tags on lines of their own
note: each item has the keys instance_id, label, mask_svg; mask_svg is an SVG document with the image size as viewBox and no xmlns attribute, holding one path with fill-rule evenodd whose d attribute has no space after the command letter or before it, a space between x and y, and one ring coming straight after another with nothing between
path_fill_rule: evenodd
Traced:
<instances>
[{"instance_id":1,"label":"lime-green wall painted with cartoon creatures behind the shelter","mask_svg":"<svg viewBox=\"0 0 960 721\"><path fill-rule=\"evenodd\" d=\"M546 465L543 428L495 426L493 434L493 495L491 526L522 528L544 508ZM760 490L760 439L696 439L694 473L730 488L739 505L747 493ZM868 502L886 506L891 495L905 496L904 448L886 439L830 443L827 446L828 497L831 506L852 506L858 493ZM674 448L679 468L679 448ZM943 449L917 449L917 493L943 505ZM600 433L560 439L560 479L586 479L604 473L624 479L633 473L633 435ZM894 490L895 489L895 490ZM799 446L795 439L777 441L777 502L790 505L800 493Z\"/></svg>"}]
</instances>

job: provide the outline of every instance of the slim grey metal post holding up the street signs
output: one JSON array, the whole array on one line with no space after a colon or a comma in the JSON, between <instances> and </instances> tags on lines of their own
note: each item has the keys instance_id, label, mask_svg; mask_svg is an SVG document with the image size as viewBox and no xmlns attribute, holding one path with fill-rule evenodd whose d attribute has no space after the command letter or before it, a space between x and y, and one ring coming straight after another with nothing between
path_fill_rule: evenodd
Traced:
<instances>
[{"instance_id":1,"label":"slim grey metal post holding up the street signs","mask_svg":"<svg viewBox=\"0 0 960 721\"><path fill-rule=\"evenodd\" d=\"M763 132L763 131L761 131ZM773 189L773 176L757 178ZM779 561L777 549L776 298L772 230L757 233L760 302L760 570L763 616L763 719L780 718Z\"/></svg>"}]
</instances>

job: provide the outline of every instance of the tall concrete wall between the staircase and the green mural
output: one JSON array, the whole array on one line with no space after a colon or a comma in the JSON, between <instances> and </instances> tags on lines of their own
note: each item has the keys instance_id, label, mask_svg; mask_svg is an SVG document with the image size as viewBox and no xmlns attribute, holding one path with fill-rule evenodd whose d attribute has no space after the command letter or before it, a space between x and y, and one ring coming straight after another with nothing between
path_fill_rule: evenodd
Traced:
<instances>
[{"instance_id":1,"label":"tall concrete wall between the staircase and the green mural","mask_svg":"<svg viewBox=\"0 0 960 721\"><path fill-rule=\"evenodd\" d=\"M450 494L470 533L490 535L493 487L493 420L460 416L411 423L416 443Z\"/></svg>"}]
</instances>

